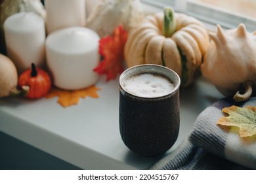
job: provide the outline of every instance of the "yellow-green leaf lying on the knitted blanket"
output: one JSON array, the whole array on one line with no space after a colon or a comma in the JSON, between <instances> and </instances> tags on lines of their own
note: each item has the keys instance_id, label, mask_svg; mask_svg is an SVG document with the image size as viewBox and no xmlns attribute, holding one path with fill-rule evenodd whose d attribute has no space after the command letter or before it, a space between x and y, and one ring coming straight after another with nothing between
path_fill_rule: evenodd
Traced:
<instances>
[{"instance_id":1,"label":"yellow-green leaf lying on the knitted blanket","mask_svg":"<svg viewBox=\"0 0 256 183\"><path fill-rule=\"evenodd\" d=\"M223 108L223 112L228 116L220 118L217 124L239 127L240 137L250 137L256 134L256 107L233 105Z\"/></svg>"}]
</instances>

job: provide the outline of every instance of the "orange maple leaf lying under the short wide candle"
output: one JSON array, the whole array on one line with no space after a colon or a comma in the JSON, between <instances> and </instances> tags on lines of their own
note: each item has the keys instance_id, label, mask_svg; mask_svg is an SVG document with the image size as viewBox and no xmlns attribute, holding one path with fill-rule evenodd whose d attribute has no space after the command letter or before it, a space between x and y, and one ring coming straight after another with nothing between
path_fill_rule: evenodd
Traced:
<instances>
[{"instance_id":1,"label":"orange maple leaf lying under the short wide candle","mask_svg":"<svg viewBox=\"0 0 256 183\"><path fill-rule=\"evenodd\" d=\"M59 97L58 103L62 105L62 107L69 107L71 105L76 105L79 102L80 98L85 98L87 96L92 98L98 98L99 95L97 93L97 90L100 90L100 88L96 88L95 86L90 86L89 88L74 91L52 88L45 97L47 99Z\"/></svg>"}]
</instances>

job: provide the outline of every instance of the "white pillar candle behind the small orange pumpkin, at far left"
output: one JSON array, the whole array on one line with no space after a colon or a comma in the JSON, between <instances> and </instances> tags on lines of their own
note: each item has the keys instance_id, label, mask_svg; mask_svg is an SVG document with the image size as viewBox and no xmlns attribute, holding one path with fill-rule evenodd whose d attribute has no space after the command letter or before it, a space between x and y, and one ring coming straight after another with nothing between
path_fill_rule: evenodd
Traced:
<instances>
[{"instance_id":1,"label":"white pillar candle behind the small orange pumpkin, at far left","mask_svg":"<svg viewBox=\"0 0 256 183\"><path fill-rule=\"evenodd\" d=\"M45 64L45 22L34 12L19 12L4 22L7 56L12 59L18 73L35 63Z\"/></svg>"}]
</instances>

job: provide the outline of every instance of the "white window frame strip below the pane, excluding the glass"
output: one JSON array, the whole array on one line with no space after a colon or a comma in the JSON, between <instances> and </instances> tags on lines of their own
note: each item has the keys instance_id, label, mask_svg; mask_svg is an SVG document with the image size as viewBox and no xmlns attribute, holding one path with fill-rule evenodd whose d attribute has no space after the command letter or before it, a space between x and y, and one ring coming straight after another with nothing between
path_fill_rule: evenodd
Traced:
<instances>
[{"instance_id":1,"label":"white window frame strip below the pane, excluding the glass","mask_svg":"<svg viewBox=\"0 0 256 183\"><path fill-rule=\"evenodd\" d=\"M205 3L191 0L140 0L142 3L157 8L172 7L176 12L183 12L194 16L211 25L221 25L224 29L232 29L243 23L249 32L256 30L256 19L236 12L217 8Z\"/></svg>"}]
</instances>

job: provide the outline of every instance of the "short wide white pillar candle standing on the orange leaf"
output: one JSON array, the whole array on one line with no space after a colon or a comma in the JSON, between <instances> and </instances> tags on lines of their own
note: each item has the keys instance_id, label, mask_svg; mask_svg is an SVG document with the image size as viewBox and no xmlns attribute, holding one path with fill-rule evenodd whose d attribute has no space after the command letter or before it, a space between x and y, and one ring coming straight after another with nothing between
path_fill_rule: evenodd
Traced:
<instances>
[{"instance_id":1,"label":"short wide white pillar candle standing on the orange leaf","mask_svg":"<svg viewBox=\"0 0 256 183\"><path fill-rule=\"evenodd\" d=\"M78 90L95 84L93 71L100 61L100 37L85 27L69 27L51 33L46 39L47 65L53 84L65 90Z\"/></svg>"}]
</instances>

